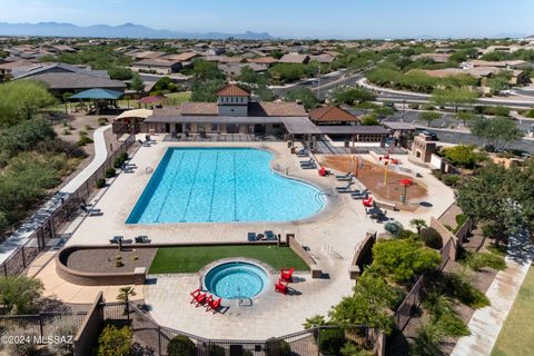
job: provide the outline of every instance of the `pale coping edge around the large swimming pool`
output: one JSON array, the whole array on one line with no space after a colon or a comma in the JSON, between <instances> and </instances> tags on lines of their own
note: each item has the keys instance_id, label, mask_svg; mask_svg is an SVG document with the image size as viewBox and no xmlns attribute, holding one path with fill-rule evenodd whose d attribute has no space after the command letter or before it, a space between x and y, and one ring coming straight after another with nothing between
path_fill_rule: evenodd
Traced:
<instances>
[{"instance_id":1,"label":"pale coping edge around the large swimming pool","mask_svg":"<svg viewBox=\"0 0 534 356\"><path fill-rule=\"evenodd\" d=\"M136 197L135 199L135 202L134 202L134 206L130 208L129 212L127 214L126 216L126 220L122 222L126 227L130 227L130 228L136 228L136 227L140 227L140 228L150 228L150 227L161 227L161 226L168 226L168 227L172 227L172 226L188 226L188 225L202 225L202 226L214 226L214 225L221 225L221 224L228 224L228 225L248 225L248 224L274 224L274 225L294 225L294 224L306 224L306 222L315 222L317 217L319 216L323 216L324 214L330 211L330 209L333 208L333 204L334 204L334 199L336 198L336 196L333 194L332 189L328 188L327 186L322 186L320 184L316 184L316 182L310 182L308 180L305 180L304 178L299 178L299 177L295 177L295 176L288 176L288 175L285 175L283 172L279 172L277 171L276 169L274 169L274 161L276 158L283 158L279 152L277 152L276 150L273 150L270 149L269 147L255 147L255 146L231 146L229 148L241 148L241 149L256 149L256 150L260 150L260 151L266 151L266 152L269 152L273 155L273 159L269 161L269 169L275 174L275 175L278 175L283 178L286 178L286 179L290 179L290 180L295 180L295 181L298 181L300 184L305 184L305 185L308 185L315 189L317 189L320 194L324 196L324 200L325 200L325 204L323 206L323 208L320 208L320 210L318 210L317 212L308 216L308 217L305 217L303 219L297 219L297 220L283 220L283 221L266 221L266 220L257 220L257 221L212 221L212 222L209 222L209 221L189 221L189 222L157 222L157 224L128 224L126 222L130 215L134 212L134 209L136 208L139 199L142 197L142 195L145 194L145 190L147 189L148 185L150 184L151 179L154 178L154 175L156 174L157 169L160 167L161 165L161 161L164 160L165 156L167 155L167 152L169 151L169 149L176 149L176 148L191 148L191 149L195 149L195 148L198 148L198 149L205 149L205 148L212 148L212 149L217 149L217 148L228 148L226 146L198 146L198 145L195 145L195 146L177 146L177 145L168 145L165 149L164 149L164 152L162 155L159 157L159 159L157 160L157 167L154 169L154 172L151 175L151 177L148 179L148 181L145 184L144 188L141 189L140 194Z\"/></svg>"}]
</instances>

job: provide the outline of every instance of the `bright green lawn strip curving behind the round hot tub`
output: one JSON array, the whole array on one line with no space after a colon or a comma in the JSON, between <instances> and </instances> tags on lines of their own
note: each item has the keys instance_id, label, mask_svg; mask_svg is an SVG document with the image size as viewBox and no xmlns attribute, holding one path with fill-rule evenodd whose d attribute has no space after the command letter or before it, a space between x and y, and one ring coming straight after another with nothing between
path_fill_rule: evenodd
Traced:
<instances>
[{"instance_id":1,"label":"bright green lawn strip curving behind the round hot tub","mask_svg":"<svg viewBox=\"0 0 534 356\"><path fill-rule=\"evenodd\" d=\"M289 247L276 246L208 246L162 247L150 266L150 274L196 273L204 266L222 258L245 257L260 260L275 269L309 267Z\"/></svg>"}]
</instances>

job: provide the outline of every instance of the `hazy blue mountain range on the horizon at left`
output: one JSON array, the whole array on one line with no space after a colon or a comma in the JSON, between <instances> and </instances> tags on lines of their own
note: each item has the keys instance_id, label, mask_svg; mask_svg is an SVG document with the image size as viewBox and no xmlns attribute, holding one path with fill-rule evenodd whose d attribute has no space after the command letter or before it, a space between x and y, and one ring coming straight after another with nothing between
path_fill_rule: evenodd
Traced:
<instances>
[{"instance_id":1,"label":"hazy blue mountain range on the horizon at left","mask_svg":"<svg viewBox=\"0 0 534 356\"><path fill-rule=\"evenodd\" d=\"M8 23L0 22L0 36L42 36L42 37L90 37L90 38L147 38L147 39L227 39L269 40L269 33L250 32L194 33L171 30L155 30L146 26L125 23L120 26L95 24L81 27L72 23L39 22Z\"/></svg>"}]
</instances>

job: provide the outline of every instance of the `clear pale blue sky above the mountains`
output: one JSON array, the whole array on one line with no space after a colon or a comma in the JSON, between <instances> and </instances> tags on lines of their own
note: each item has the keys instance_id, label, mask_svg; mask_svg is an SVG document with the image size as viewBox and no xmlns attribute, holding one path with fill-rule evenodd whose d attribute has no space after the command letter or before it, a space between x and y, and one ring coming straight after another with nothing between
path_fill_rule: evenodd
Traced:
<instances>
[{"instance_id":1,"label":"clear pale blue sky above the mountains","mask_svg":"<svg viewBox=\"0 0 534 356\"><path fill-rule=\"evenodd\" d=\"M279 37L534 34L534 0L0 0L0 21L132 22L187 32Z\"/></svg>"}]
</instances>

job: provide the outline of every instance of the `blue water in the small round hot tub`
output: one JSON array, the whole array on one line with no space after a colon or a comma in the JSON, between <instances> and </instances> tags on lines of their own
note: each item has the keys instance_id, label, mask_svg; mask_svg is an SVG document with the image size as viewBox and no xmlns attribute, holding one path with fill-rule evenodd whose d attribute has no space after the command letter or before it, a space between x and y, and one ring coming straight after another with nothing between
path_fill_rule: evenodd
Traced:
<instances>
[{"instance_id":1,"label":"blue water in the small round hot tub","mask_svg":"<svg viewBox=\"0 0 534 356\"><path fill-rule=\"evenodd\" d=\"M248 299L257 296L268 284L267 274L256 265L228 263L211 268L204 285L224 299Z\"/></svg>"}]
</instances>

